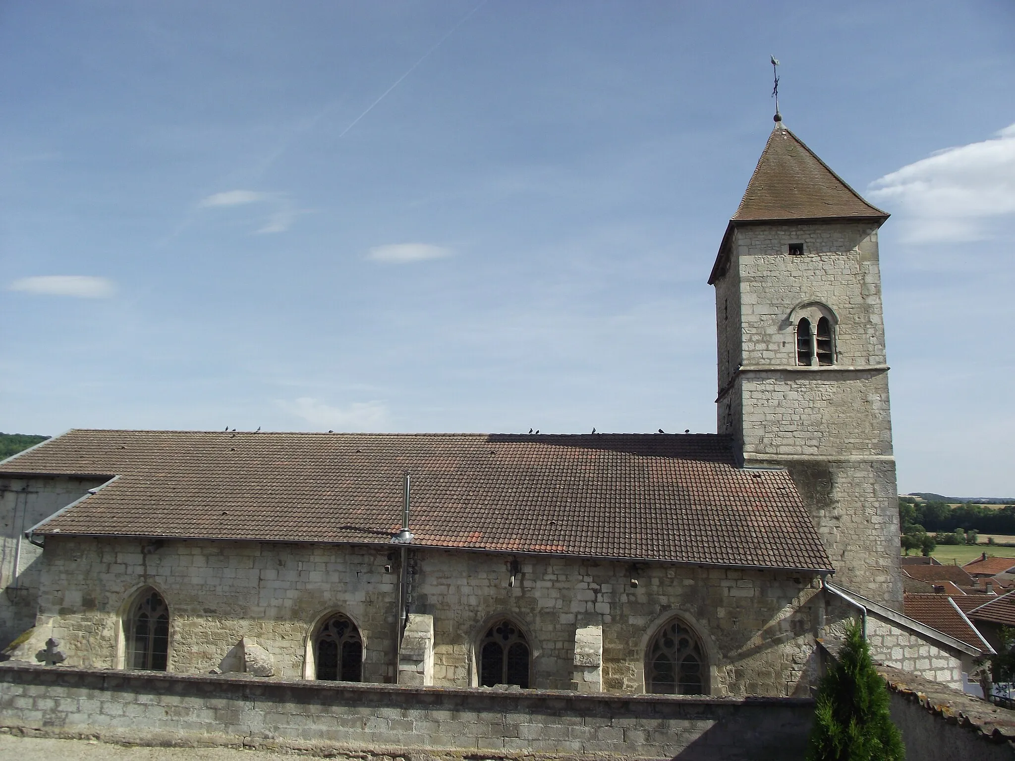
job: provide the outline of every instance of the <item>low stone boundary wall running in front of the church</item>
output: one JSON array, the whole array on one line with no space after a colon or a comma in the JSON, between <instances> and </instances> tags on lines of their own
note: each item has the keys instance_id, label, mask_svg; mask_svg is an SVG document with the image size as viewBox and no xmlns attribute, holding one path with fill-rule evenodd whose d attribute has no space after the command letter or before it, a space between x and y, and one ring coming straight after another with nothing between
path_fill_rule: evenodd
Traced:
<instances>
[{"instance_id":1,"label":"low stone boundary wall running in front of the church","mask_svg":"<svg viewBox=\"0 0 1015 761\"><path fill-rule=\"evenodd\" d=\"M338 758L802 758L806 698L606 696L0 665L0 728Z\"/></svg>"}]
</instances>

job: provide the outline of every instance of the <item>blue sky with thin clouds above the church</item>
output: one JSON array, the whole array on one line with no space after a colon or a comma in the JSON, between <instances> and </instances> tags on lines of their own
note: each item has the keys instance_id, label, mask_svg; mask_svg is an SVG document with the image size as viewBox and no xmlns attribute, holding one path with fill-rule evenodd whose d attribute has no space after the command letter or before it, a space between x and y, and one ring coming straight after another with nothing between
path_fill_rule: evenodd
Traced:
<instances>
[{"instance_id":1,"label":"blue sky with thin clouds above the church","mask_svg":"<svg viewBox=\"0 0 1015 761\"><path fill-rule=\"evenodd\" d=\"M1015 5L0 6L0 429L714 431L771 127L893 213L902 491L1015 495Z\"/></svg>"}]
</instances>

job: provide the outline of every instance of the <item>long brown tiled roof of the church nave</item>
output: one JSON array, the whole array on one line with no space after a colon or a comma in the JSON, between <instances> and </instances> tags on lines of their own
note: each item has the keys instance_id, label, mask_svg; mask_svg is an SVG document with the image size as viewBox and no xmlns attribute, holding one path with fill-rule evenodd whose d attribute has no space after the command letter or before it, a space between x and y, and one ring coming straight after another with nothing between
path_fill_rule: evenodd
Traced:
<instances>
[{"instance_id":1,"label":"long brown tiled roof of the church nave","mask_svg":"<svg viewBox=\"0 0 1015 761\"><path fill-rule=\"evenodd\" d=\"M37 527L388 544L412 477L415 545L830 570L785 470L715 434L71 430L0 473L119 476Z\"/></svg>"}]
</instances>

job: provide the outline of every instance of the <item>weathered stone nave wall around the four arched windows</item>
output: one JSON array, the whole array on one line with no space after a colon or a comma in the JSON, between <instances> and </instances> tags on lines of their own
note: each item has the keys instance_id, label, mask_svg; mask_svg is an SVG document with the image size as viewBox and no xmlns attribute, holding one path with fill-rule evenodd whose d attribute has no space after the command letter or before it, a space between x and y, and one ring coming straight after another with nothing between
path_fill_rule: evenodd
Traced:
<instances>
[{"instance_id":1,"label":"weathered stone nave wall around the four arched windows","mask_svg":"<svg viewBox=\"0 0 1015 761\"><path fill-rule=\"evenodd\" d=\"M52 633L68 665L122 667L122 621L148 584L170 607L171 671L233 668L248 637L271 653L279 676L311 676L308 637L340 611L360 628L364 681L392 679L398 568L386 547L46 542L37 639ZM538 688L570 689L576 630L602 626L604 690L641 692L649 639L673 614L702 641L712 694L806 695L817 670L818 582L807 576L445 550L410 556L410 609L433 617L435 685L477 683L475 644L504 614L525 630Z\"/></svg>"}]
</instances>

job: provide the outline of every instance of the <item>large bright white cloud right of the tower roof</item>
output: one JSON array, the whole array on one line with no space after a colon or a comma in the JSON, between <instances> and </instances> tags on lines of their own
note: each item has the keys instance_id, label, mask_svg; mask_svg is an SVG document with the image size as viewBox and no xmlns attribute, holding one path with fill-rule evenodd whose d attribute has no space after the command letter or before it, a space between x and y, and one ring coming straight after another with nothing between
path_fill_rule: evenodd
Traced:
<instances>
[{"instance_id":1,"label":"large bright white cloud right of the tower roof","mask_svg":"<svg viewBox=\"0 0 1015 761\"><path fill-rule=\"evenodd\" d=\"M898 212L911 243L977 240L1015 215L1015 124L875 180L870 196Z\"/></svg>"}]
</instances>

